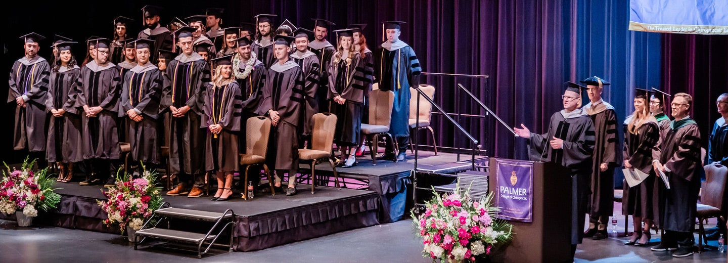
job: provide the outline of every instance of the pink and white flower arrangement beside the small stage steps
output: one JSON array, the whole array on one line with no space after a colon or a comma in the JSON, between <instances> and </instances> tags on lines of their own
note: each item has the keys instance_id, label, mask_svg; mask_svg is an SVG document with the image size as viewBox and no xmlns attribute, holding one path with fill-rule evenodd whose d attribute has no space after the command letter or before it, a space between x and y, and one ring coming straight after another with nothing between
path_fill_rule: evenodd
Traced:
<instances>
[{"instance_id":1,"label":"pink and white flower arrangement beside the small stage steps","mask_svg":"<svg viewBox=\"0 0 728 263\"><path fill-rule=\"evenodd\" d=\"M118 224L122 234L127 226L141 229L144 221L162 205L162 196L159 195L161 188L154 183L157 172L146 170L143 164L142 169L144 172L141 178L132 178L129 173L122 173L119 169L114 187L103 192L108 200L98 201L108 217L103 223L108 227Z\"/></svg>"}]
</instances>

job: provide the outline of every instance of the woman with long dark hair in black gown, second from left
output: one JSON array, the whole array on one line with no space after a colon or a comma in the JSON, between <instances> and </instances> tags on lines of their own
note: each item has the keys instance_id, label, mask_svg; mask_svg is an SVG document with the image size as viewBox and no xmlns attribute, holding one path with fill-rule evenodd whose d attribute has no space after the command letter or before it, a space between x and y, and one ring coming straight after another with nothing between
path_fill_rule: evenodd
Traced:
<instances>
[{"instance_id":1,"label":"woman with long dark hair in black gown, second from left","mask_svg":"<svg viewBox=\"0 0 728 263\"><path fill-rule=\"evenodd\" d=\"M46 109L50 111L50 125L46 144L46 159L58 165L58 179L67 183L74 176L74 162L83 160L81 149L81 116L76 104L76 79L81 69L71 52L71 44L60 42L58 55L50 73Z\"/></svg>"}]
</instances>

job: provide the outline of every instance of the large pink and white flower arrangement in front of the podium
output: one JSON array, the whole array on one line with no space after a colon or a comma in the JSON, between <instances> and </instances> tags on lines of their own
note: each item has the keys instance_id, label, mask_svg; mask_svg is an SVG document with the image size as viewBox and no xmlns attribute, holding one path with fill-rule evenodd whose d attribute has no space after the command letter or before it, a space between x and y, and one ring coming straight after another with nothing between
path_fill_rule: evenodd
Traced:
<instances>
[{"instance_id":1,"label":"large pink and white flower arrangement in front of the podium","mask_svg":"<svg viewBox=\"0 0 728 263\"><path fill-rule=\"evenodd\" d=\"M459 187L456 187L459 189ZM505 243L513 235L513 225L495 219L499 208L491 206L492 195L473 202L469 191L461 196L458 190L425 202L420 216L412 210L416 235L423 238L422 256L448 262L475 262L491 254L497 243Z\"/></svg>"}]
</instances>

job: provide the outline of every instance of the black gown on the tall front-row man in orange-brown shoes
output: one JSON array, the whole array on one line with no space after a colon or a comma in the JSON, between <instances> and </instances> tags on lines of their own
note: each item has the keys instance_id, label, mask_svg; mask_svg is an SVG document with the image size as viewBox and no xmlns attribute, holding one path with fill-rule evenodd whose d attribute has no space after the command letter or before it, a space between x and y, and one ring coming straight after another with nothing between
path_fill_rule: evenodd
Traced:
<instances>
[{"instance_id":1,"label":"black gown on the tall front-row man in orange-brown shoes","mask_svg":"<svg viewBox=\"0 0 728 263\"><path fill-rule=\"evenodd\" d=\"M170 83L162 89L159 110L162 114L170 114L167 127L170 173L204 173L206 133L200 125L205 114L205 88L210 82L210 67L205 59L192 52L190 57L181 54L167 63L165 75ZM190 109L183 117L173 117L170 106L178 109L189 106Z\"/></svg>"}]
</instances>

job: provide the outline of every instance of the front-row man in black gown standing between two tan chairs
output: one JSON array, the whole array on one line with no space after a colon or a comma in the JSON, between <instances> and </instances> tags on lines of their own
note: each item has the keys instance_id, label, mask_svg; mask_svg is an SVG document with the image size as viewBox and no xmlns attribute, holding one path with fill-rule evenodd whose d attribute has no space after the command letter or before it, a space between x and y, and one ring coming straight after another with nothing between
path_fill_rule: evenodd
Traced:
<instances>
[{"instance_id":1,"label":"front-row man in black gown standing between two tan chairs","mask_svg":"<svg viewBox=\"0 0 728 263\"><path fill-rule=\"evenodd\" d=\"M274 186L280 189L281 177L288 173L285 195L296 195L298 171L298 126L304 107L304 74L301 67L290 59L291 36L276 36L274 53L277 62L266 74L263 101L258 114L271 118L273 127L268 143L266 165L275 170Z\"/></svg>"}]
</instances>

